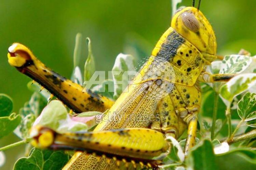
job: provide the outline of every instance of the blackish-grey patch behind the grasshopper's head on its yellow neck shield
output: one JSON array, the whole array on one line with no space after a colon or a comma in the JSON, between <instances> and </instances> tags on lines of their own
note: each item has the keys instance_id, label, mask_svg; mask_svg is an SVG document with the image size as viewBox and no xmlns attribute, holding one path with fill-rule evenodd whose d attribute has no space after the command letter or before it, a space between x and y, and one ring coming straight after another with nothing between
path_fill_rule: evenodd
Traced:
<instances>
[{"instance_id":1,"label":"blackish-grey patch behind the grasshopper's head on its yellow neck shield","mask_svg":"<svg viewBox=\"0 0 256 170\"><path fill-rule=\"evenodd\" d=\"M172 61L172 58L177 54L177 49L185 42L185 39L173 30L164 40L161 49L157 53L157 57L163 58L166 61Z\"/></svg>"}]
</instances>

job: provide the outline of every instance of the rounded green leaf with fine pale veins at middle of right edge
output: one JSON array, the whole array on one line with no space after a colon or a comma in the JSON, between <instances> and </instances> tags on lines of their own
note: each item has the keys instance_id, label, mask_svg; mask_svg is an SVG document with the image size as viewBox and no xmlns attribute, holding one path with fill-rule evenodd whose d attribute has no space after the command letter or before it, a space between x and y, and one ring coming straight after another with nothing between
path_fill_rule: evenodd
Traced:
<instances>
[{"instance_id":1,"label":"rounded green leaf with fine pale veins at middle of right edge","mask_svg":"<svg viewBox=\"0 0 256 170\"><path fill-rule=\"evenodd\" d=\"M256 109L256 94L247 92L242 97L242 99L238 102L237 113L241 119L250 120L251 118L256 116L255 109Z\"/></svg>"}]
</instances>

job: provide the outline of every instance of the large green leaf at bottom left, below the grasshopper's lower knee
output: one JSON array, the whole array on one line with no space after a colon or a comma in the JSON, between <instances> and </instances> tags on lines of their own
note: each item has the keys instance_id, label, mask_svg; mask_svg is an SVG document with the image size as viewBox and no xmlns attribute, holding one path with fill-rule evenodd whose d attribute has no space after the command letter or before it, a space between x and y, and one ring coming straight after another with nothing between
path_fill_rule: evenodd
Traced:
<instances>
[{"instance_id":1,"label":"large green leaf at bottom left, below the grasshopper's lower knee","mask_svg":"<svg viewBox=\"0 0 256 170\"><path fill-rule=\"evenodd\" d=\"M19 158L14 170L58 170L67 164L69 155L64 151L40 150L33 148L29 157Z\"/></svg>"}]
</instances>

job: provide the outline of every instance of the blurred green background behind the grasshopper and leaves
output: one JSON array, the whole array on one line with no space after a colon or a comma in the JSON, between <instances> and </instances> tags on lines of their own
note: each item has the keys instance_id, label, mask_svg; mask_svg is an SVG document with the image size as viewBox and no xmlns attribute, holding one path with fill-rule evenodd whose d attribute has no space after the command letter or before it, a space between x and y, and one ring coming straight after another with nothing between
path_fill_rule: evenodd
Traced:
<instances>
[{"instance_id":1,"label":"blurred green background behind the grasshopper and leaves","mask_svg":"<svg viewBox=\"0 0 256 170\"><path fill-rule=\"evenodd\" d=\"M191 1L183 0L181 5L190 6ZM241 48L256 54L255 0L202 0L200 10L215 30L218 54L237 53ZM171 0L1 0L0 93L13 98L14 112L32 94L26 86L30 79L8 64L7 50L13 42L28 46L48 67L69 78L77 32L84 37L81 65L87 56L85 37L90 37L97 70L111 70L131 33L147 41L150 55L170 26L171 13ZM11 134L1 139L0 147L18 140ZM12 169L23 149L6 151L2 168Z\"/></svg>"}]
</instances>

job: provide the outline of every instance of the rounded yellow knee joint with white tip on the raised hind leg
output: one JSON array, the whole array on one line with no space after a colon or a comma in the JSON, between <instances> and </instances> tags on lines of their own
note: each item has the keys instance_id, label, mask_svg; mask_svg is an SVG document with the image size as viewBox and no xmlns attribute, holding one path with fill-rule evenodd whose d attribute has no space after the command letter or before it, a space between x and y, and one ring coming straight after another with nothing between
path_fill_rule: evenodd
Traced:
<instances>
[{"instance_id":1,"label":"rounded yellow knee joint with white tip on the raised hind leg","mask_svg":"<svg viewBox=\"0 0 256 170\"><path fill-rule=\"evenodd\" d=\"M13 43L8 48L8 62L11 66L22 67L26 63L31 63L35 58L32 52L24 45L19 43Z\"/></svg>"}]
</instances>

